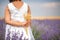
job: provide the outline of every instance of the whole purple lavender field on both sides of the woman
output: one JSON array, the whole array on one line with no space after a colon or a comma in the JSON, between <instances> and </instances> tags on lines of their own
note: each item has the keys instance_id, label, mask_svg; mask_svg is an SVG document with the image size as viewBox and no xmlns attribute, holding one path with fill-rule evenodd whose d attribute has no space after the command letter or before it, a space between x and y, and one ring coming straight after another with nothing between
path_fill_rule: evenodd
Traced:
<instances>
[{"instance_id":1,"label":"whole purple lavender field on both sides of the woman","mask_svg":"<svg viewBox=\"0 0 60 40\"><path fill-rule=\"evenodd\" d=\"M32 20L31 27L36 40L60 40L60 20ZM4 40L5 22L0 20L0 40Z\"/></svg>"}]
</instances>

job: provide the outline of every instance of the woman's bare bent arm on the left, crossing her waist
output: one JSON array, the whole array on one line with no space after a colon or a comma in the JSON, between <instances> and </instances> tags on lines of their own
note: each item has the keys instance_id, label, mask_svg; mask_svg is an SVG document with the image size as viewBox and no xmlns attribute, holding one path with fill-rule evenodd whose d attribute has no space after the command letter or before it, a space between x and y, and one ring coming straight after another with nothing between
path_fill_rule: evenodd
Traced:
<instances>
[{"instance_id":1,"label":"woman's bare bent arm on the left, crossing her waist","mask_svg":"<svg viewBox=\"0 0 60 40\"><path fill-rule=\"evenodd\" d=\"M26 22L24 22L24 24L23 24L19 21L11 20L11 15L10 15L8 7L6 7L6 9L5 9L5 22L7 24L10 24L10 25L13 25L13 26L24 26L24 24L26 23Z\"/></svg>"}]
</instances>

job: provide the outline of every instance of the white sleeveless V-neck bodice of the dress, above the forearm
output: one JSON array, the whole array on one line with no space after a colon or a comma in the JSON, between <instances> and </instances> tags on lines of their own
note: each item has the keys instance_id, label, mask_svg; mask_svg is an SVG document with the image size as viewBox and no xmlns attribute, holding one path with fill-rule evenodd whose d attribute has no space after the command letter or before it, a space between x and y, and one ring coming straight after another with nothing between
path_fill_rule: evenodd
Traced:
<instances>
[{"instance_id":1,"label":"white sleeveless V-neck bodice of the dress, above the forearm","mask_svg":"<svg viewBox=\"0 0 60 40\"><path fill-rule=\"evenodd\" d=\"M27 14L28 5L25 2L23 2L22 6L19 9L15 7L13 3L9 3L8 8L12 20L20 22L26 21L24 15Z\"/></svg>"}]
</instances>

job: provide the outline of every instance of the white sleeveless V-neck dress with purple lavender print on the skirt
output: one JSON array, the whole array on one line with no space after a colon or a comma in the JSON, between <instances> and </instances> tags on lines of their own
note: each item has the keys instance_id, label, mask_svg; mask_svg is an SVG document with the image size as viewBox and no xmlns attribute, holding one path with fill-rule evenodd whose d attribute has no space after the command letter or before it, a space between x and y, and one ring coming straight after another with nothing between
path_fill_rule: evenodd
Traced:
<instances>
[{"instance_id":1,"label":"white sleeveless V-neck dress with purple lavender print on the skirt","mask_svg":"<svg viewBox=\"0 0 60 40\"><path fill-rule=\"evenodd\" d=\"M8 4L8 8L12 20L20 22L26 21L23 15L28 11L27 3L24 2L19 10L12 3ZM30 25L27 27L27 32L28 35L24 27L14 27L6 24L5 40L35 40Z\"/></svg>"}]
</instances>

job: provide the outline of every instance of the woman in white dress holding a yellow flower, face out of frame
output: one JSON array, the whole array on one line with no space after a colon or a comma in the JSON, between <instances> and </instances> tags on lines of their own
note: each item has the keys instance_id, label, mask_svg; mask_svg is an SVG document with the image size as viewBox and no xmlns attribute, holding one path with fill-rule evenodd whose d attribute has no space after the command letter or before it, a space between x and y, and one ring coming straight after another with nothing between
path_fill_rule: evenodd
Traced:
<instances>
[{"instance_id":1,"label":"woman in white dress holding a yellow flower, face out of frame","mask_svg":"<svg viewBox=\"0 0 60 40\"><path fill-rule=\"evenodd\" d=\"M5 9L5 40L34 40L31 31L31 12L22 0L9 0Z\"/></svg>"}]
</instances>

